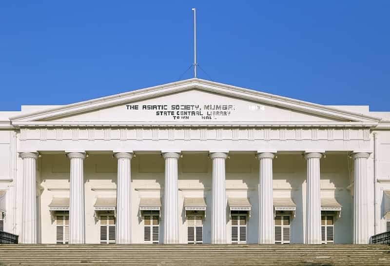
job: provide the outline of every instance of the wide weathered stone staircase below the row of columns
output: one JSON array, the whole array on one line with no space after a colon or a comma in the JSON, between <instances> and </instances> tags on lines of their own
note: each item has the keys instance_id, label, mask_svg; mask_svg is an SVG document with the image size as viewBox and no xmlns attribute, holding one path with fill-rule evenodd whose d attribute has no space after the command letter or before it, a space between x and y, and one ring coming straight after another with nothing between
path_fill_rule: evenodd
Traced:
<instances>
[{"instance_id":1,"label":"wide weathered stone staircase below the row of columns","mask_svg":"<svg viewBox=\"0 0 390 266\"><path fill-rule=\"evenodd\" d=\"M385 245L0 245L3 265L390 266Z\"/></svg>"}]
</instances>

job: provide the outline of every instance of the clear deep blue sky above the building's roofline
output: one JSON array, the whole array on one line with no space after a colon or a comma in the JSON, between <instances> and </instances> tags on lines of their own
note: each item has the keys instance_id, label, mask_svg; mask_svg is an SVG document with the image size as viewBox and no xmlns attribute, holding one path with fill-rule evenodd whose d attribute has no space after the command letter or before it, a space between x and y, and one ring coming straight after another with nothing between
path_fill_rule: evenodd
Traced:
<instances>
[{"instance_id":1,"label":"clear deep blue sky above the building's roofline","mask_svg":"<svg viewBox=\"0 0 390 266\"><path fill-rule=\"evenodd\" d=\"M390 111L389 0L4 0L0 110L177 81L193 62L192 7L213 81Z\"/></svg>"}]
</instances>

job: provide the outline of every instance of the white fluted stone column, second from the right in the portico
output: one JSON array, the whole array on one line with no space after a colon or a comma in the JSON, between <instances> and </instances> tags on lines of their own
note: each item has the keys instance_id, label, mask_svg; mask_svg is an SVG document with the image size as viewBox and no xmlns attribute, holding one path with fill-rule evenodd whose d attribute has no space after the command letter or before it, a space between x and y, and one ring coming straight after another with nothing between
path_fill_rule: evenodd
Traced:
<instances>
[{"instance_id":1,"label":"white fluted stone column, second from the right in the portico","mask_svg":"<svg viewBox=\"0 0 390 266\"><path fill-rule=\"evenodd\" d=\"M321 157L322 154L318 152L305 154L307 160L306 244L321 244Z\"/></svg>"}]
</instances>

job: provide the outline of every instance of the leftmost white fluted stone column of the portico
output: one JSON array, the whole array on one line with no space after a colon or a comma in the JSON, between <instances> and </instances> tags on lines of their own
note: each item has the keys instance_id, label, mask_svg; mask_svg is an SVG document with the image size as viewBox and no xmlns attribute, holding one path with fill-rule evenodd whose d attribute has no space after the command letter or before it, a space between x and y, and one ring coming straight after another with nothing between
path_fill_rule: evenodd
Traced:
<instances>
[{"instance_id":1,"label":"leftmost white fluted stone column of the portico","mask_svg":"<svg viewBox=\"0 0 390 266\"><path fill-rule=\"evenodd\" d=\"M36 161L38 153L21 152L20 157L23 159L23 205L20 242L22 244L37 244L38 221Z\"/></svg>"}]
</instances>

